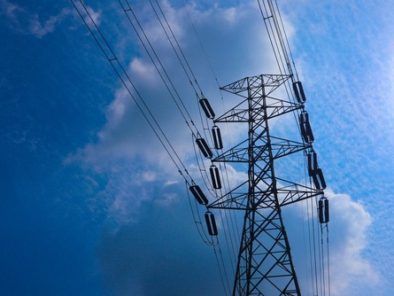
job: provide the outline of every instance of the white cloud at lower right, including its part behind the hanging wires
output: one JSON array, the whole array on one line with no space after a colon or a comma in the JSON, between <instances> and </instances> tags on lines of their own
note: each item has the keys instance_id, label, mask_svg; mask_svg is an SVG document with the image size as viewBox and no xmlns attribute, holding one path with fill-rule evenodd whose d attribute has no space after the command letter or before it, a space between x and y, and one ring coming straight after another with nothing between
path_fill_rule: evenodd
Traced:
<instances>
[{"instance_id":1,"label":"white cloud at lower right, including its part behind the hanging wires","mask_svg":"<svg viewBox=\"0 0 394 296\"><path fill-rule=\"evenodd\" d=\"M360 201L352 199L347 194L334 193L328 188L325 190L325 195L330 203L330 222L328 227L330 240L331 295L360 295L363 291L363 293L365 293L365 291L375 290L377 285L381 283L382 278L376 267L372 265L370 259L364 254L369 245L370 228L373 225L371 214ZM316 221L317 211L315 210L315 206L313 206L313 208L313 220ZM307 214L307 209L311 211L311 205L306 207L305 202L297 203L294 207L297 215L300 215L302 220L304 220L303 223L310 223L308 222L308 218L311 219L311 216ZM294 223L294 221L292 223ZM308 229L307 226L303 228L304 231ZM297 230L292 227L291 231L297 232ZM317 238L320 235L318 234L320 229L317 225L315 226L315 231L315 236ZM295 234L292 233L290 235L294 236ZM308 240L308 236L306 234L303 235L305 239ZM325 244L325 238L323 241ZM318 241L317 243L320 244ZM292 244L296 246L295 258L296 263L298 261L298 268L308 269L308 272L301 270L301 274L303 274L300 279L302 288L304 293L312 294L311 287L313 285L313 278L308 264L311 264L310 260L313 258L313 252L310 251L309 247L302 244L302 237L300 235L294 236ZM306 250L301 250L301 248L306 248ZM326 253L324 254L326 255ZM302 264L300 264L301 262ZM325 272L327 276L327 269Z\"/></svg>"}]
</instances>

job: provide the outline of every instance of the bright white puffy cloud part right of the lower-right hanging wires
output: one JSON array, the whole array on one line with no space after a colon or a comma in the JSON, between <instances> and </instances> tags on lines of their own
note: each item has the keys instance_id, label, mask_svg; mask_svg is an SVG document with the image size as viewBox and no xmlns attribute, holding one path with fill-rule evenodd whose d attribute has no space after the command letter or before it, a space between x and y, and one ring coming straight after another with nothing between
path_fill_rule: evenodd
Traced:
<instances>
[{"instance_id":1,"label":"bright white puffy cloud part right of the lower-right hanging wires","mask_svg":"<svg viewBox=\"0 0 394 296\"><path fill-rule=\"evenodd\" d=\"M332 295L353 295L354 287L376 287L379 274L363 255L372 217L346 194L327 192L331 208Z\"/></svg>"}]
</instances>

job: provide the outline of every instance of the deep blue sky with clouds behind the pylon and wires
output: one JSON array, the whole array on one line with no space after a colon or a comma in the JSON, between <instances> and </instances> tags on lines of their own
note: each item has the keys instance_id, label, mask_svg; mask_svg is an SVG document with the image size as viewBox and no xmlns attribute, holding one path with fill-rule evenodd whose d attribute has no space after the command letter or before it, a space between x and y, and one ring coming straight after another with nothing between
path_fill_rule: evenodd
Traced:
<instances>
[{"instance_id":1,"label":"deep blue sky with clouds behind the pylon and wires","mask_svg":"<svg viewBox=\"0 0 394 296\"><path fill-rule=\"evenodd\" d=\"M194 171L186 126L117 2L86 2ZM394 3L279 2L329 184L332 294L391 295ZM263 22L255 1L184 3L163 7L221 110L227 97L189 20L221 84L274 69ZM149 7L138 1L136 9L180 93L192 97ZM0 293L223 295L182 179L70 3L0 0L0 14ZM233 141L239 132L224 131ZM311 295L303 211L286 218Z\"/></svg>"}]
</instances>

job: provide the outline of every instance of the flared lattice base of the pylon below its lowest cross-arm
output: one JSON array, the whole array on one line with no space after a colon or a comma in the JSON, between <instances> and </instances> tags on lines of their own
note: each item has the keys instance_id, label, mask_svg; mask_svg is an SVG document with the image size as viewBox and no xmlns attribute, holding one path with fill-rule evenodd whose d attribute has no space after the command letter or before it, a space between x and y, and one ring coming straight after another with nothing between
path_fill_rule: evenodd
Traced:
<instances>
[{"instance_id":1,"label":"flared lattice base of the pylon below its lowest cross-arm","mask_svg":"<svg viewBox=\"0 0 394 296\"><path fill-rule=\"evenodd\" d=\"M280 210L246 213L233 295L301 295Z\"/></svg>"}]
</instances>

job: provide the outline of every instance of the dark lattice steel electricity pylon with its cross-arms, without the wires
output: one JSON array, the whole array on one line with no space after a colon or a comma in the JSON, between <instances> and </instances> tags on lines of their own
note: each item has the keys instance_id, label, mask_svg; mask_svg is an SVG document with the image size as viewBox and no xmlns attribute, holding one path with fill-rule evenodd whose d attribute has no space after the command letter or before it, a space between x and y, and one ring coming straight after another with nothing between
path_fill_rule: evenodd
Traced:
<instances>
[{"instance_id":1,"label":"dark lattice steel electricity pylon with its cross-arms, without the wires","mask_svg":"<svg viewBox=\"0 0 394 296\"><path fill-rule=\"evenodd\" d=\"M306 113L302 100L278 98L291 78L263 74L222 87L243 100L214 122L248 125L246 140L212 159L244 164L248 171L247 180L208 205L210 209L245 212L233 295L301 295L281 208L320 195L324 188L297 184L275 174L277 159L300 151L313 152L309 121L306 129L301 126L301 142L270 134L273 118L290 112ZM297 82L293 86L297 87Z\"/></svg>"}]
</instances>

